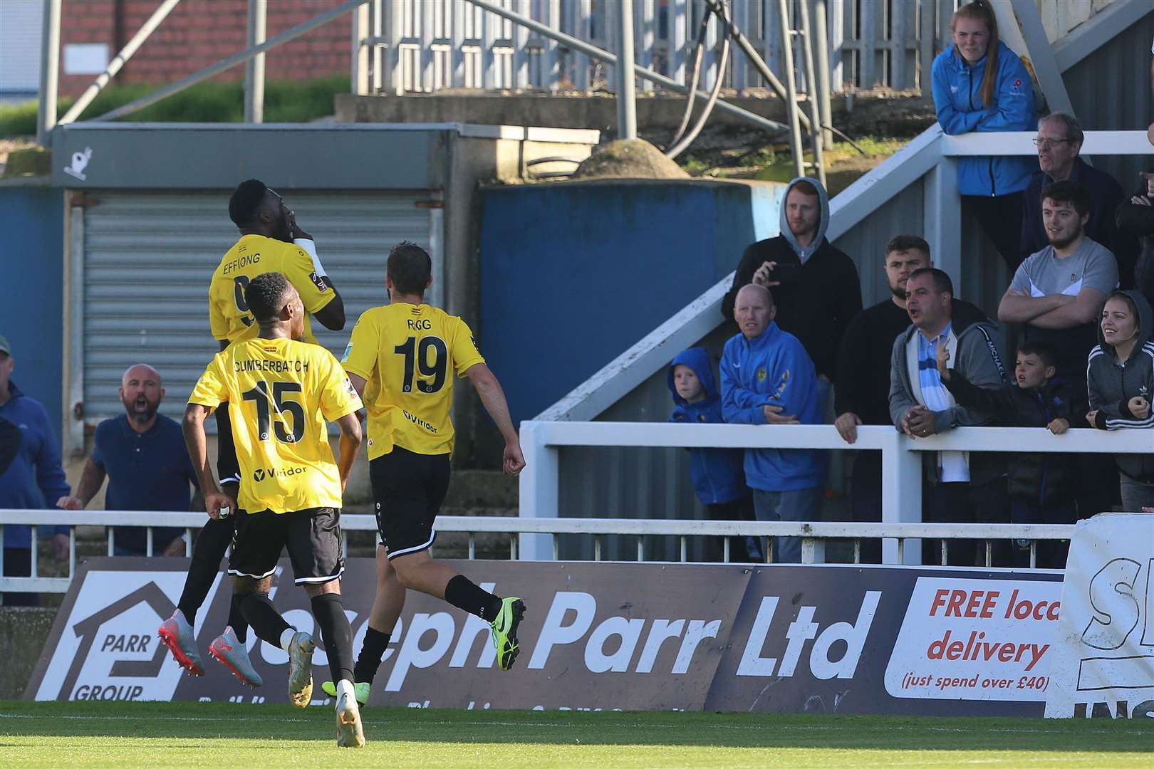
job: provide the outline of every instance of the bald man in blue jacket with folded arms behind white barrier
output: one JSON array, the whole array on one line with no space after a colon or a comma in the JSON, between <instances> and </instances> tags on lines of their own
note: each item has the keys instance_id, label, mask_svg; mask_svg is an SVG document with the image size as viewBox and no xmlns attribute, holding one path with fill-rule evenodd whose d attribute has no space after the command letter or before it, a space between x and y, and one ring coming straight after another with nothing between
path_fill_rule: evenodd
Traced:
<instances>
[{"instance_id":1,"label":"bald man in blue jacket with folded arms behind white barrier","mask_svg":"<svg viewBox=\"0 0 1154 769\"><path fill-rule=\"evenodd\" d=\"M737 292L734 319L741 333L721 355L721 412L736 424L822 424L817 374L797 338L773 322L777 308L764 286ZM825 452L747 448L745 482L763 521L814 521L822 505ZM777 537L774 563L800 563L801 538Z\"/></svg>"}]
</instances>

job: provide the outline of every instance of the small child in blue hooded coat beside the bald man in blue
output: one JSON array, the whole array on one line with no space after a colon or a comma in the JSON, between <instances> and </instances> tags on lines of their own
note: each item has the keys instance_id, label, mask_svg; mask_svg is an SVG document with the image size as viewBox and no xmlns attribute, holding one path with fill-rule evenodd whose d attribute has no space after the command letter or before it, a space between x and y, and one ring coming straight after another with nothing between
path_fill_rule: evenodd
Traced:
<instances>
[{"instance_id":1,"label":"small child in blue hooded coat beside the bald man in blue","mask_svg":"<svg viewBox=\"0 0 1154 769\"><path fill-rule=\"evenodd\" d=\"M690 347L673 359L667 374L673 394L670 422L710 423L721 419L721 395L710 355L702 347ZM690 477L697 498L710 520L752 521L754 498L745 485L744 451L741 448L690 448ZM721 560L721 540L711 543L710 559ZM729 560L760 563L765 558L754 537L729 537Z\"/></svg>"}]
</instances>

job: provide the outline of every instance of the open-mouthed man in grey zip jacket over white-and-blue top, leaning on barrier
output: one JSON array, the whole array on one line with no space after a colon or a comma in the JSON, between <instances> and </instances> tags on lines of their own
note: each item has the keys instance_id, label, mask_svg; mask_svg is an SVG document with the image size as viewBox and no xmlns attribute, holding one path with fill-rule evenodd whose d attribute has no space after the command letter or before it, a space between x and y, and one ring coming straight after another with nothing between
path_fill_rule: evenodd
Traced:
<instances>
[{"instance_id":1,"label":"open-mouthed man in grey zip jacket over white-and-blue top, leaning on barrier","mask_svg":"<svg viewBox=\"0 0 1154 769\"><path fill-rule=\"evenodd\" d=\"M913 325L893 342L890 359L890 416L912 438L927 438L956 427L990 424L994 415L954 402L937 372L937 346L950 350L950 368L979 387L1005 384L997 326L981 312L954 312L953 285L942 270L909 276L906 309ZM965 307L965 306L962 306ZM960 308L959 308L960 309ZM1010 521L1005 462L997 453L924 452L930 483L923 495L923 520L943 523ZM941 563L941 546L923 550L926 563ZM1009 565L1009 543L996 542L994 565ZM984 544L956 542L950 565L984 564Z\"/></svg>"}]
</instances>

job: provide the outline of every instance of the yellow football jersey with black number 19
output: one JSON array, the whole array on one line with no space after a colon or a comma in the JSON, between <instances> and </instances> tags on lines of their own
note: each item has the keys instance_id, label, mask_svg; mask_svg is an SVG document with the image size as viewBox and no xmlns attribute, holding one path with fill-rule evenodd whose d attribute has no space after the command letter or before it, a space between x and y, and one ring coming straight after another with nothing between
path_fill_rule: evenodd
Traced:
<instances>
[{"instance_id":1,"label":"yellow football jersey with black number 19","mask_svg":"<svg viewBox=\"0 0 1154 769\"><path fill-rule=\"evenodd\" d=\"M484 362L469 325L435 307L397 302L362 312L342 363L367 383L368 458L395 445L452 453L451 374Z\"/></svg>"}]
</instances>

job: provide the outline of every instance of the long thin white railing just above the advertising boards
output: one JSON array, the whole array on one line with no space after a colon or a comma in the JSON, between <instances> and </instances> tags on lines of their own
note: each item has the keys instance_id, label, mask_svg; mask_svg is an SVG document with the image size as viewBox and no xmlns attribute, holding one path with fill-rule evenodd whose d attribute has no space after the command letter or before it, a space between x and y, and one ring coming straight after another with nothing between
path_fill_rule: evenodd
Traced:
<instances>
[{"instance_id":1,"label":"long thin white railing just above the advertising boards","mask_svg":"<svg viewBox=\"0 0 1154 769\"><path fill-rule=\"evenodd\" d=\"M37 548L31 550L31 574L29 576L0 576L0 593L63 593L72 582L76 571L76 527L78 526L140 526L148 529L151 542L153 528L183 528L188 535L201 528L208 517L203 513L172 511L103 511L103 510L0 510L0 537L6 526L31 526L36 541L38 530L55 526L69 528L68 571L63 576L40 576ZM340 527L347 555L349 531L376 531L376 519L373 515L345 514L340 517ZM990 543L994 540L1029 540L1031 567L1034 567L1036 542L1042 540L1069 540L1073 535L1073 526L1031 523L983 526L977 523L860 523L860 522L794 522L794 521L702 521L702 520L644 520L621 518L556 518L556 517L472 517L440 515L436 519L437 531L469 534L467 557L477 557L478 534L508 534L509 557L511 559L531 559L533 553L520 546L523 537L542 537L549 544L542 560L557 560L560 555L560 537L565 534L586 535L593 537L593 560L602 560L602 538L606 536L631 536L637 541L637 560L645 558L645 537L674 536L679 540L680 561L688 561L690 537L725 537L722 542L722 563L729 563L728 537L774 537L792 536L802 540L802 563L823 563L826 540L852 540L854 543L854 563L859 563L861 540L883 540L891 542L898 555L897 563L904 563L902 556L909 550L909 540L942 540L943 556L946 553L946 541L979 540L987 542L987 565L990 563ZM190 537L186 540L185 555L190 555ZM913 544L913 543L911 543ZM151 556L151 548L149 549ZM107 553L113 555L110 531ZM769 556L769 549L766 549ZM0 571L3 555L0 549Z\"/></svg>"}]
</instances>

